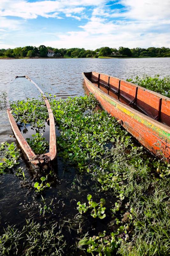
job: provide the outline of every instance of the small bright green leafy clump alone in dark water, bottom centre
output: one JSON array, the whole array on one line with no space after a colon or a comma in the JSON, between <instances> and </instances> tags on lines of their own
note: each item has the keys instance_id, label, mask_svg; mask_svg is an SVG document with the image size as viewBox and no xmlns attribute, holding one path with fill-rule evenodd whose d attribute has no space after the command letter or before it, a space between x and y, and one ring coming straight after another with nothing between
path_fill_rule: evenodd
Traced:
<instances>
[{"instance_id":1,"label":"small bright green leafy clump alone in dark water, bottom centre","mask_svg":"<svg viewBox=\"0 0 170 256\"><path fill-rule=\"evenodd\" d=\"M86 206L86 203L81 204L81 202L77 202L77 209L80 214L87 212L89 209L91 210L91 216L93 218L98 217L99 219L104 219L106 217L105 210L106 207L103 207L106 204L106 201L104 198L100 199L100 203L96 203L95 201L92 201L92 195L87 195L88 200L88 206Z\"/></svg>"}]
</instances>

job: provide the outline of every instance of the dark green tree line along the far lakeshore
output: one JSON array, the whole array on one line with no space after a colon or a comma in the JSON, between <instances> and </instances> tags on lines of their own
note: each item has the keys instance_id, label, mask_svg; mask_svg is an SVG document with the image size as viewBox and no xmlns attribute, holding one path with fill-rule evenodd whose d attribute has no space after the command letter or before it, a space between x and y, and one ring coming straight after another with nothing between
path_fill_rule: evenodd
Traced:
<instances>
[{"instance_id":1,"label":"dark green tree line along the far lakeshore","mask_svg":"<svg viewBox=\"0 0 170 256\"><path fill-rule=\"evenodd\" d=\"M32 57L47 57L48 49L54 51L55 57L70 57L70 58L90 58L90 57L170 57L170 48L161 47L149 47L144 48L133 48L129 49L127 47L109 48L101 47L92 50L85 50L84 48L52 48L46 47L45 45L35 46L25 46L17 47L14 49L0 49L0 57L7 58L32 58Z\"/></svg>"}]
</instances>

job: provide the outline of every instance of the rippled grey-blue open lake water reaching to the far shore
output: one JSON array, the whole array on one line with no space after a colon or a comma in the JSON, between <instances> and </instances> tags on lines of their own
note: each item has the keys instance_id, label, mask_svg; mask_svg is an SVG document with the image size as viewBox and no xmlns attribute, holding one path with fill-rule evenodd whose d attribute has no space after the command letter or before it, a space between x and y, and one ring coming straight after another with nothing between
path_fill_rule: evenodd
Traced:
<instances>
[{"instance_id":1,"label":"rippled grey-blue open lake water reaching to the far shore","mask_svg":"<svg viewBox=\"0 0 170 256\"><path fill-rule=\"evenodd\" d=\"M85 93L83 71L97 71L122 79L149 74L170 75L170 58L143 59L23 59L0 60L0 94L7 92L9 100L38 97L38 89L26 79L28 75L44 92L58 98L80 96ZM12 134L5 111L0 111L0 141Z\"/></svg>"}]
</instances>

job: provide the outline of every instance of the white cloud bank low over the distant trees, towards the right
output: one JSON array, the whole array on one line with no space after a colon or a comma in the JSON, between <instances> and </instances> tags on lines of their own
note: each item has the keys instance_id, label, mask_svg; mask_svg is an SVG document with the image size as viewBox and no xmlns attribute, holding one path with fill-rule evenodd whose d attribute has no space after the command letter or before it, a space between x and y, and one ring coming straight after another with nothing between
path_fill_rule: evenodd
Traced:
<instances>
[{"instance_id":1,"label":"white cloud bank low over the distant trees, towards the right","mask_svg":"<svg viewBox=\"0 0 170 256\"><path fill-rule=\"evenodd\" d=\"M127 39L128 38L128 39ZM58 40L48 40L43 42L44 45L51 45L57 48L85 48L95 50L97 48L108 46L111 48L119 48L119 46L129 48L147 48L153 47L169 47L169 34L148 33L144 36L131 34L129 32L107 34L107 35L89 35L87 32L70 32L67 35L59 35Z\"/></svg>"}]
</instances>

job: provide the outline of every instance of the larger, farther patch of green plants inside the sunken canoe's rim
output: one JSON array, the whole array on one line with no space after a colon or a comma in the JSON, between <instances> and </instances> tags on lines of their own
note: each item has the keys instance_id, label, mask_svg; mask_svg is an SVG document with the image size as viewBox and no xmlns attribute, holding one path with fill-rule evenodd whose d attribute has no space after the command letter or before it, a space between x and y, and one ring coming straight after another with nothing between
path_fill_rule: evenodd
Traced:
<instances>
[{"instance_id":1,"label":"larger, farther patch of green plants inside the sunken canoe's rim","mask_svg":"<svg viewBox=\"0 0 170 256\"><path fill-rule=\"evenodd\" d=\"M11 102L11 113L16 122L31 124L36 130L45 128L48 119L48 110L44 100L27 99Z\"/></svg>"}]
</instances>

